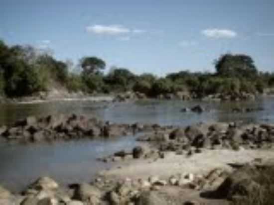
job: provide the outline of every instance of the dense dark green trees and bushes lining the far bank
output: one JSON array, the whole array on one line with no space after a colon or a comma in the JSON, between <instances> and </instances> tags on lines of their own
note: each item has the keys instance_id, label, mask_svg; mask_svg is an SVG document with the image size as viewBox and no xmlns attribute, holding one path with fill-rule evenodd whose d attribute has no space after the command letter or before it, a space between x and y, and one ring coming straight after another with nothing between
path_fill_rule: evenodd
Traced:
<instances>
[{"instance_id":1,"label":"dense dark green trees and bushes lining the far bank","mask_svg":"<svg viewBox=\"0 0 274 205\"><path fill-rule=\"evenodd\" d=\"M7 46L0 41L0 95L21 97L49 91L58 85L69 92L110 93L135 91L147 96L189 91L198 96L215 93L262 93L274 86L274 74L259 72L247 55L225 54L215 62L216 73L170 73L164 78L135 75L126 68L112 67L106 75L104 60L83 57L81 72L69 72L68 63L56 60L31 46Z\"/></svg>"}]
</instances>

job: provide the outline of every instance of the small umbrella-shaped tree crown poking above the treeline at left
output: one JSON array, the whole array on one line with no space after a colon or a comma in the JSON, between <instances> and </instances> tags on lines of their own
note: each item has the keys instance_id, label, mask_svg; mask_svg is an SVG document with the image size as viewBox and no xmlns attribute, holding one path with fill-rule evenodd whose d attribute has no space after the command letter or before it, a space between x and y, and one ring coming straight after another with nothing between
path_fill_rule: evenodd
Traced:
<instances>
[{"instance_id":1,"label":"small umbrella-shaped tree crown poking above the treeline at left","mask_svg":"<svg viewBox=\"0 0 274 205\"><path fill-rule=\"evenodd\" d=\"M97 57L84 57L80 61L84 75L96 74L106 68L106 63Z\"/></svg>"}]
</instances>

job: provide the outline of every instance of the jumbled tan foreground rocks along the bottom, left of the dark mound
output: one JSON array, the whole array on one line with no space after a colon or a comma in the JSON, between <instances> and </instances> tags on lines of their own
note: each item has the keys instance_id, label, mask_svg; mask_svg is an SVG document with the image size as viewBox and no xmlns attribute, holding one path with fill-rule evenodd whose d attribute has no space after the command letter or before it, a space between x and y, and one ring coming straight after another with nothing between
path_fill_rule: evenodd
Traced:
<instances>
[{"instance_id":1,"label":"jumbled tan foreground rocks along the bottom, left of the dark mound","mask_svg":"<svg viewBox=\"0 0 274 205\"><path fill-rule=\"evenodd\" d=\"M0 204L4 205L168 205L161 195L166 187L207 190L218 187L225 176L219 169L207 176L178 174L167 180L157 176L148 179L113 180L97 177L92 183L60 187L53 179L42 177L28 186L21 194L11 194L0 187ZM222 179L222 180L220 180ZM180 202L182 203L182 201Z\"/></svg>"}]
</instances>

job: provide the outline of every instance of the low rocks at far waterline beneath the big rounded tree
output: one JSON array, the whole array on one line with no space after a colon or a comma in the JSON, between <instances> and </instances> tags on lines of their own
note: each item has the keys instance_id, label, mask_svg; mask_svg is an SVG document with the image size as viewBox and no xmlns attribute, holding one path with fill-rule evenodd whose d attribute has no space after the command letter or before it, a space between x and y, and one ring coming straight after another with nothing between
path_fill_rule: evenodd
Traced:
<instances>
[{"instance_id":1,"label":"low rocks at far waterline beneath the big rounded tree","mask_svg":"<svg viewBox=\"0 0 274 205\"><path fill-rule=\"evenodd\" d=\"M214 95L208 95L204 97L203 101L246 101L246 100L255 100L255 95L246 92L240 93L232 93L232 94L225 94L225 93L218 93Z\"/></svg>"}]
</instances>

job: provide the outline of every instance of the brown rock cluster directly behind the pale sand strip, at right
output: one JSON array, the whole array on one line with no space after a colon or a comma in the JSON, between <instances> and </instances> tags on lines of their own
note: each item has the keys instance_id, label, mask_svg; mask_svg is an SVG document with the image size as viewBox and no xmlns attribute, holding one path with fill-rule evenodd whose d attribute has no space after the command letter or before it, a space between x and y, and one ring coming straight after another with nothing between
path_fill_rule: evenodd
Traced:
<instances>
[{"instance_id":1,"label":"brown rock cluster directly behind the pale sand strip, at right","mask_svg":"<svg viewBox=\"0 0 274 205\"><path fill-rule=\"evenodd\" d=\"M191 155L207 149L271 148L274 124L199 123L185 128L157 131L137 138L149 141L159 152Z\"/></svg>"}]
</instances>

